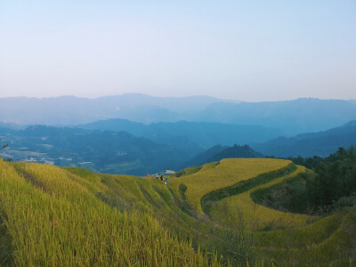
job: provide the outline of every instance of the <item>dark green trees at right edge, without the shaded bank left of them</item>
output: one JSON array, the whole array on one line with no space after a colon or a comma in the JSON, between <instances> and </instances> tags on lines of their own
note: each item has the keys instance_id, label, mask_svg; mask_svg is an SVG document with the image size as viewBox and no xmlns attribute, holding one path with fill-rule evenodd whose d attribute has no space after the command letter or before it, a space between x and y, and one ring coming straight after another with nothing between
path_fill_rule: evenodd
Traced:
<instances>
[{"instance_id":1,"label":"dark green trees at right edge, without the shaded bank left of them","mask_svg":"<svg viewBox=\"0 0 356 267\"><path fill-rule=\"evenodd\" d=\"M295 164L311 168L303 174L304 186L295 190L295 203L303 210L326 212L356 204L356 149L339 148L327 158L292 158ZM299 198L299 199L298 199Z\"/></svg>"}]
</instances>

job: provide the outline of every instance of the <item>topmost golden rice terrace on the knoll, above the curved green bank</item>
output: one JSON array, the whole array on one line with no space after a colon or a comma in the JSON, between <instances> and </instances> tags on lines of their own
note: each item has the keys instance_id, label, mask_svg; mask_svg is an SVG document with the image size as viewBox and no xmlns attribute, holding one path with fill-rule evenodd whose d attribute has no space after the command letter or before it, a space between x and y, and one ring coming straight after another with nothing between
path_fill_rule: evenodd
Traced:
<instances>
[{"instance_id":1,"label":"topmost golden rice terrace on the knoll, above the curved green bank","mask_svg":"<svg viewBox=\"0 0 356 267\"><path fill-rule=\"evenodd\" d=\"M260 174L277 171L291 164L289 160L273 158L226 158L220 163L209 163L197 173L172 178L171 184L176 196L180 196L179 187L187 187L185 198L194 209L203 214L200 200L206 194L247 181Z\"/></svg>"}]
</instances>

